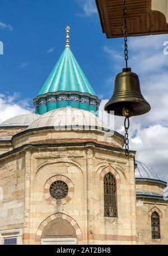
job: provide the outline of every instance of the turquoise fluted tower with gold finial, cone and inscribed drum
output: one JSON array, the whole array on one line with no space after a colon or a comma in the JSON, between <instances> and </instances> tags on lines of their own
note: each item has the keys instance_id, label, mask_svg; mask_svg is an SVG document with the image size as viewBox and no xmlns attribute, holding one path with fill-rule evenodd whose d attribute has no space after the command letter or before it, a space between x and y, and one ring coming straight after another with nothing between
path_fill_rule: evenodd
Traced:
<instances>
[{"instance_id":1,"label":"turquoise fluted tower with gold finial, cone and inscribed drum","mask_svg":"<svg viewBox=\"0 0 168 256\"><path fill-rule=\"evenodd\" d=\"M71 106L97 115L100 100L69 48L69 27L66 30L66 49L34 99L36 113L43 115L53 109Z\"/></svg>"}]
</instances>

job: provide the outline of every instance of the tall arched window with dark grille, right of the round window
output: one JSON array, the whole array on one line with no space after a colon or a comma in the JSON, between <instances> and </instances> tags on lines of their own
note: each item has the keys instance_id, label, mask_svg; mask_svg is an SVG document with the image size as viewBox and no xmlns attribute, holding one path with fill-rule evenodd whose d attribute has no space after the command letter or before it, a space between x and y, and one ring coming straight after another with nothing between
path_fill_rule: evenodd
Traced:
<instances>
[{"instance_id":1,"label":"tall arched window with dark grille, right of the round window","mask_svg":"<svg viewBox=\"0 0 168 256\"><path fill-rule=\"evenodd\" d=\"M116 180L110 172L104 176L104 216L117 217Z\"/></svg>"}]
</instances>

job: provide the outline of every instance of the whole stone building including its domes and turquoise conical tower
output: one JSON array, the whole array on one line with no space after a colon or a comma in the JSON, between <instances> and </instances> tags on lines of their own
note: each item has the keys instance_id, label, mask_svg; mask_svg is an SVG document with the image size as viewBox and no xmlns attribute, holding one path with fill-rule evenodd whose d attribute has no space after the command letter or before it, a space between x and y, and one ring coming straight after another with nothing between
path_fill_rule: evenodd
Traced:
<instances>
[{"instance_id":1,"label":"whole stone building including its domes and turquoise conical tower","mask_svg":"<svg viewBox=\"0 0 168 256\"><path fill-rule=\"evenodd\" d=\"M0 125L0 244L168 244L166 182L97 117L68 44L34 104Z\"/></svg>"}]
</instances>

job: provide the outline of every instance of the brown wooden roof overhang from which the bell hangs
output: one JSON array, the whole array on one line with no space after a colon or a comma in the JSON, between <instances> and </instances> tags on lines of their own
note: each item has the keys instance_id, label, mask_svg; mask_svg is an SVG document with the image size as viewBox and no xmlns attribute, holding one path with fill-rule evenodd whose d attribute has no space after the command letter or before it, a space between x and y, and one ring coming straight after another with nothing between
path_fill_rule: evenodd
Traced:
<instances>
[{"instance_id":1,"label":"brown wooden roof overhang from which the bell hangs","mask_svg":"<svg viewBox=\"0 0 168 256\"><path fill-rule=\"evenodd\" d=\"M103 33L123 37L123 0L96 0ZM127 0L128 36L168 33L168 0Z\"/></svg>"}]
</instances>

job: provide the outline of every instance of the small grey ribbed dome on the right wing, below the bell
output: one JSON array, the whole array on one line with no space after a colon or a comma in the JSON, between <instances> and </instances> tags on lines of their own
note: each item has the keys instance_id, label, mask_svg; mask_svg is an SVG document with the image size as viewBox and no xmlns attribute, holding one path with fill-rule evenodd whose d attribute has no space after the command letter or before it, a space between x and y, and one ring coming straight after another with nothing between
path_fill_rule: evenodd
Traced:
<instances>
[{"instance_id":1,"label":"small grey ribbed dome on the right wing, below the bell","mask_svg":"<svg viewBox=\"0 0 168 256\"><path fill-rule=\"evenodd\" d=\"M136 160L137 168L135 171L135 175L137 179L152 179L152 180L160 180L160 177L153 172L150 167L146 166L146 164L141 163Z\"/></svg>"}]
</instances>

